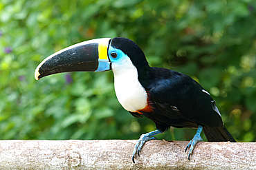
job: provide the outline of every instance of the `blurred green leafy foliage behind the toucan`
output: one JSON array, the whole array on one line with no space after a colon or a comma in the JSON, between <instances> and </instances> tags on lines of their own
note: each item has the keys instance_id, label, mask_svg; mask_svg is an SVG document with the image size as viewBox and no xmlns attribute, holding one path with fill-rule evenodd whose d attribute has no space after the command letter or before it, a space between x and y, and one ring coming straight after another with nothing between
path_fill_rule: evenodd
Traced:
<instances>
[{"instance_id":1,"label":"blurred green leafy foliage behind the toucan","mask_svg":"<svg viewBox=\"0 0 256 170\"><path fill-rule=\"evenodd\" d=\"M112 72L35 81L37 65L57 50L116 36L135 41L151 66L199 81L216 100L232 136L255 141L252 0L1 0L0 138L138 139L156 129L151 120L122 109ZM156 137L190 140L194 134L194 129L171 128Z\"/></svg>"}]
</instances>

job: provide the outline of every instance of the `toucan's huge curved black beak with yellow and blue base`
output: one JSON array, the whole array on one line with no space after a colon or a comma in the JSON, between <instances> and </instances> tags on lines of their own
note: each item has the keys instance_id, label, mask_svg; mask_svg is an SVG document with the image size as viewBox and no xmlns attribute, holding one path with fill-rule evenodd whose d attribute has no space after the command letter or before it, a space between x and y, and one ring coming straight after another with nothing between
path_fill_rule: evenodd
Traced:
<instances>
[{"instance_id":1,"label":"toucan's huge curved black beak with yellow and blue base","mask_svg":"<svg viewBox=\"0 0 256 170\"><path fill-rule=\"evenodd\" d=\"M35 79L60 72L103 72L111 70L107 51L111 39L93 39L66 47L48 56L35 70Z\"/></svg>"}]
</instances>

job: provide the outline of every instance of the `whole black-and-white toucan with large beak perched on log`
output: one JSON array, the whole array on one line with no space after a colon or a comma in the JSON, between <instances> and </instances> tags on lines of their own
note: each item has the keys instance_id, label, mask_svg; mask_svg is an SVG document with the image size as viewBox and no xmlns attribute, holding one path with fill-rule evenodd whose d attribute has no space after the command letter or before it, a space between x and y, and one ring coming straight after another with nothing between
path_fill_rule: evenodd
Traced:
<instances>
[{"instance_id":1,"label":"whole black-and-white toucan with large beak perched on log","mask_svg":"<svg viewBox=\"0 0 256 170\"><path fill-rule=\"evenodd\" d=\"M189 148L188 160L196 143L203 141L201 131L209 142L236 142L224 126L215 100L199 83L180 72L150 67L143 50L126 38L93 39L66 47L37 66L35 79L61 72L107 70L113 71L122 107L132 116L145 116L156 124L155 131L140 136L131 156L133 162L145 142L171 126L197 128L185 148Z\"/></svg>"}]
</instances>

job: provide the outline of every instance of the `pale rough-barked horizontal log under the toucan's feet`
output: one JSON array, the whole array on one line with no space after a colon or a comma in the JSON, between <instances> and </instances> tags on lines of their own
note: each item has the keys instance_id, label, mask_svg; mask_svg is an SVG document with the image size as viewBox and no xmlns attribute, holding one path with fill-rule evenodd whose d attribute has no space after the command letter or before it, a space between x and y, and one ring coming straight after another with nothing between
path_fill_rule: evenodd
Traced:
<instances>
[{"instance_id":1,"label":"pale rough-barked horizontal log under the toucan's feet","mask_svg":"<svg viewBox=\"0 0 256 170\"><path fill-rule=\"evenodd\" d=\"M0 169L256 169L254 142L146 142L136 163L137 140L0 140Z\"/></svg>"}]
</instances>

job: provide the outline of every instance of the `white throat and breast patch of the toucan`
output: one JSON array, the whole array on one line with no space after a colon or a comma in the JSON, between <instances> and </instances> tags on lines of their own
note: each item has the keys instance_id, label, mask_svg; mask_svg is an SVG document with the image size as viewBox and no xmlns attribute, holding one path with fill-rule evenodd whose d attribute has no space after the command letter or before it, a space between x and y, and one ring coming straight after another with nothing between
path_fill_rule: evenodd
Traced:
<instances>
[{"instance_id":1,"label":"white throat and breast patch of the toucan","mask_svg":"<svg viewBox=\"0 0 256 170\"><path fill-rule=\"evenodd\" d=\"M138 111L147 106L147 92L138 81L138 72L129 57L122 64L112 63L115 91L119 103L127 111Z\"/></svg>"}]
</instances>

